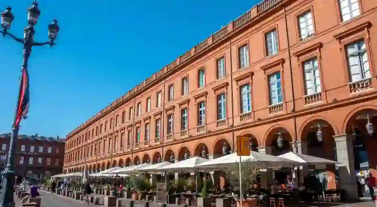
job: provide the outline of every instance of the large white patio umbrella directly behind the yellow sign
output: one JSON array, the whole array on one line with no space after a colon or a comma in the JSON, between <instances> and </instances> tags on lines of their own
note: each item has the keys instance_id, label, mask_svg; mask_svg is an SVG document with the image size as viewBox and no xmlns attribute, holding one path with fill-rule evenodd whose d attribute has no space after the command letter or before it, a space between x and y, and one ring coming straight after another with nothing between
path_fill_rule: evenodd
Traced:
<instances>
[{"instance_id":1,"label":"large white patio umbrella directly behind the yellow sign","mask_svg":"<svg viewBox=\"0 0 377 207\"><path fill-rule=\"evenodd\" d=\"M268 155L260 152L251 151L250 156L241 156L242 162L248 160L248 163L252 164L255 167L276 167L280 168L282 166L297 166L299 163L293 160L288 160L285 158ZM237 153L232 153L225 155L213 160L209 160L204 163L199 163L196 167L231 167L233 164L239 162L239 156Z\"/></svg>"}]
</instances>

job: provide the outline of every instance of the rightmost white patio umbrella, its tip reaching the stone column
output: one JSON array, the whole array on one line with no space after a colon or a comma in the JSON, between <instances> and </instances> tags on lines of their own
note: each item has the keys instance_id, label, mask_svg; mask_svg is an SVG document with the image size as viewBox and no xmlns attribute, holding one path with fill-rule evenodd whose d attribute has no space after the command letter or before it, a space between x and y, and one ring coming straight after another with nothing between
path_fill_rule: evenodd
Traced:
<instances>
[{"instance_id":1,"label":"rightmost white patio umbrella, its tip reaching the stone column","mask_svg":"<svg viewBox=\"0 0 377 207\"><path fill-rule=\"evenodd\" d=\"M300 165L341 164L337 161L326 160L326 159L314 157L311 155L297 154L294 152L287 152L285 154L279 155L278 157L299 162Z\"/></svg>"}]
</instances>

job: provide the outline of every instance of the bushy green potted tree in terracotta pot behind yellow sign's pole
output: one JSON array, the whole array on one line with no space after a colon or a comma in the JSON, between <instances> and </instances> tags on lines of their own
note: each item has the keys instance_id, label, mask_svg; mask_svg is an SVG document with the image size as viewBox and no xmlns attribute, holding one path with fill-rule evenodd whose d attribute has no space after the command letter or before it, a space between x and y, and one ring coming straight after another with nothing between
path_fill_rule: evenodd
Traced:
<instances>
[{"instance_id":1,"label":"bushy green potted tree in terracotta pot behind yellow sign's pole","mask_svg":"<svg viewBox=\"0 0 377 207\"><path fill-rule=\"evenodd\" d=\"M229 171L227 172L227 177L231 186L239 187L241 181L242 191L242 206L241 200L237 199L237 207L256 207L256 199L245 199L248 192L254 189L255 179L259 173L259 169L256 169L255 166L249 164L251 159L245 160L241 163L241 180L240 180L240 171L239 163L234 163Z\"/></svg>"}]
</instances>

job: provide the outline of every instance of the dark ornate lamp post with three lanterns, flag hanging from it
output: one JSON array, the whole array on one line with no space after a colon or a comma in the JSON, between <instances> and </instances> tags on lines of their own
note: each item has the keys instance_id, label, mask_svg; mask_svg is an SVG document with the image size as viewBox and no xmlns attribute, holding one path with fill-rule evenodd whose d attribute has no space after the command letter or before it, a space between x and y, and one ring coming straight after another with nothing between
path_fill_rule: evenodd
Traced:
<instances>
[{"instance_id":1,"label":"dark ornate lamp post with three lanterns, flag hanging from it","mask_svg":"<svg viewBox=\"0 0 377 207\"><path fill-rule=\"evenodd\" d=\"M57 37L57 33L59 32L59 26L57 24L57 20L54 20L51 24L48 25L48 37L49 41L46 42L35 42L34 41L34 26L37 24L37 20L39 15L41 14L40 10L38 9L38 3L33 2L31 7L28 9L28 26L25 27L23 33L23 38L18 38L12 33L9 33L8 30L11 28L11 23L14 20L14 16L11 13L12 8L8 6L4 12L1 13L1 27L3 30L0 30L0 33L3 34L3 37L9 36L12 37L18 43L23 45L23 62L21 67L21 73L26 72L28 67L28 60L31 54L31 49L33 46L43 46L43 45L50 45L51 47L54 46L54 40ZM21 92L21 87L20 91ZM20 97L18 97L20 99ZM14 198L13 198L13 188L14 188L14 157L15 157L15 146L18 137L18 130L19 130L19 121L16 122L18 119L17 113L20 113L19 103L17 102L16 107L16 116L12 125L12 135L11 140L9 143L9 152L8 152L8 161L5 167L5 170L2 172L3 181L2 181L2 190L0 193L0 206L1 207L14 207ZM26 115L26 114L25 114Z\"/></svg>"}]
</instances>

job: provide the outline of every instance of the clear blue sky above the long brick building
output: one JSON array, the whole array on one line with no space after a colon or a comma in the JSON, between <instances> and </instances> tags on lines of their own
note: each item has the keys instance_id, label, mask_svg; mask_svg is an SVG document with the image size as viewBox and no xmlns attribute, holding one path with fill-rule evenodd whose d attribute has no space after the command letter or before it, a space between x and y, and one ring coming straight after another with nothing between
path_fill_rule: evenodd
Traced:
<instances>
[{"instance_id":1,"label":"clear blue sky above the long brick building","mask_svg":"<svg viewBox=\"0 0 377 207\"><path fill-rule=\"evenodd\" d=\"M21 37L32 0L12 6L10 32ZM75 127L260 0L39 0L35 41L54 18L57 46L34 47L30 108L20 134L65 137ZM89 3L89 4L88 4ZM0 36L0 134L11 132L22 47Z\"/></svg>"}]
</instances>

